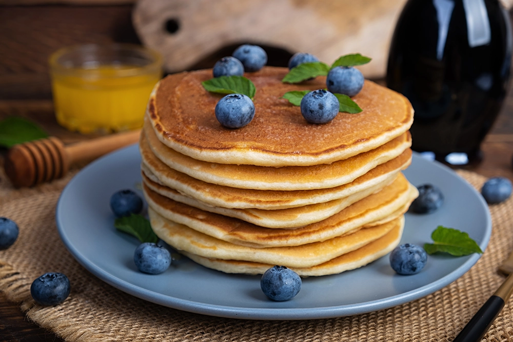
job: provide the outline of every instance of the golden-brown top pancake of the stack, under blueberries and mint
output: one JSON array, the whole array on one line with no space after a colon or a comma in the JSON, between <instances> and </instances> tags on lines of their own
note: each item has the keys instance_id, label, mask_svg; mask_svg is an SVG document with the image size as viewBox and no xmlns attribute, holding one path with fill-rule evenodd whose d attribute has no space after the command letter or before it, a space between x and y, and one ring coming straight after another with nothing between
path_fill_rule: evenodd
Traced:
<instances>
[{"instance_id":1,"label":"golden-brown top pancake of the stack, under blueberries and mint","mask_svg":"<svg viewBox=\"0 0 513 342\"><path fill-rule=\"evenodd\" d=\"M212 78L211 69L164 78L150 96L148 116L163 144L194 159L274 167L332 163L377 148L411 126L406 97L370 81L352 98L361 113L340 112L328 124L309 124L298 106L280 97L291 90L324 89L326 78L291 85L281 82L287 72L264 67L245 74L257 88L255 116L239 129L225 128L215 118L223 95L201 85Z\"/></svg>"}]
</instances>

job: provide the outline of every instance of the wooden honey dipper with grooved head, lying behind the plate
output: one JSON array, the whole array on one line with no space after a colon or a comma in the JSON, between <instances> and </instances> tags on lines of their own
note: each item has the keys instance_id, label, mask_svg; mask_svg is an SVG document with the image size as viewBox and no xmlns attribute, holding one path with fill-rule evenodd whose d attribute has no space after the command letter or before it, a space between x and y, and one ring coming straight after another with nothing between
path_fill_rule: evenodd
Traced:
<instances>
[{"instance_id":1,"label":"wooden honey dipper with grooved head, lying behind the plate","mask_svg":"<svg viewBox=\"0 0 513 342\"><path fill-rule=\"evenodd\" d=\"M63 177L75 163L90 162L139 141L141 130L116 133L65 146L56 137L14 145L5 159L5 172L15 188L33 187Z\"/></svg>"}]
</instances>

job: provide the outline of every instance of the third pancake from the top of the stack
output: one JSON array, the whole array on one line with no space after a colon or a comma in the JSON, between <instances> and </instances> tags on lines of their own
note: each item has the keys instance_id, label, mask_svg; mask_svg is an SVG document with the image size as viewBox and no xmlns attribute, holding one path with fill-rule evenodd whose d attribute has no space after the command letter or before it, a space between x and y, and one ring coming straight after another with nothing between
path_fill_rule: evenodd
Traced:
<instances>
[{"instance_id":1,"label":"third pancake from the top of the stack","mask_svg":"<svg viewBox=\"0 0 513 342\"><path fill-rule=\"evenodd\" d=\"M153 182L176 189L176 191L196 198L207 205L239 209L286 209L344 198L377 184L391 182L398 172L408 167L411 162L411 150L406 149L398 157L378 165L348 184L327 189L274 191L239 189L206 183L171 169L151 152L148 139L144 134L141 134L140 151L141 169L144 175Z\"/></svg>"}]
</instances>

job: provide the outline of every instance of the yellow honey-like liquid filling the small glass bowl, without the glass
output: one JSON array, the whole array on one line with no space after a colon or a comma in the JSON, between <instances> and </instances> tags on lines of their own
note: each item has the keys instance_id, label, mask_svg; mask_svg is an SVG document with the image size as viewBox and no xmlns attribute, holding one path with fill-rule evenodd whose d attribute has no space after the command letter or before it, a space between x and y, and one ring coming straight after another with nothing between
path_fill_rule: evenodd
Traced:
<instances>
[{"instance_id":1,"label":"yellow honey-like liquid filling the small glass bowl, without the glass","mask_svg":"<svg viewBox=\"0 0 513 342\"><path fill-rule=\"evenodd\" d=\"M116 77L133 66L101 66L77 75L53 77L57 122L72 131L122 131L140 128L158 74Z\"/></svg>"}]
</instances>

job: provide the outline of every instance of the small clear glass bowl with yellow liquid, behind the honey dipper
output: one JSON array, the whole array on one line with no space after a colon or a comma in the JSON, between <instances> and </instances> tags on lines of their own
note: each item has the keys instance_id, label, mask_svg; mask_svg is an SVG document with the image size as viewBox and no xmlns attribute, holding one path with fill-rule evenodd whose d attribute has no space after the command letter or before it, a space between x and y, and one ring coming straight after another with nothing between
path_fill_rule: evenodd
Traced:
<instances>
[{"instance_id":1,"label":"small clear glass bowl with yellow liquid, behind the honey dipper","mask_svg":"<svg viewBox=\"0 0 513 342\"><path fill-rule=\"evenodd\" d=\"M81 133L141 128L161 56L142 46L81 45L49 60L57 122Z\"/></svg>"}]
</instances>

